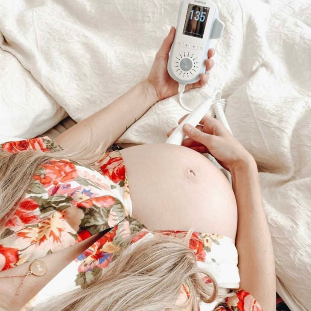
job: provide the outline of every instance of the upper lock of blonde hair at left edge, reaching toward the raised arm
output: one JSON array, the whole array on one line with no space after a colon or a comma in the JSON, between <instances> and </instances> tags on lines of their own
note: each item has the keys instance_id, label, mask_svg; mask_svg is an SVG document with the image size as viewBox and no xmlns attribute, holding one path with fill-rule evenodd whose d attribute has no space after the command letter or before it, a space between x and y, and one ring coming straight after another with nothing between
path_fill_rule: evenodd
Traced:
<instances>
[{"instance_id":1,"label":"upper lock of blonde hair at left edge, reaching toward the raised arm","mask_svg":"<svg viewBox=\"0 0 311 311\"><path fill-rule=\"evenodd\" d=\"M99 145L93 132L90 129L90 136L81 138L79 144L68 146L66 150L59 150L52 144L52 151L48 152L22 150L10 153L0 147L0 231L13 216L40 165L54 159L67 159L96 168L96 161L107 152L108 146L105 142Z\"/></svg>"}]
</instances>

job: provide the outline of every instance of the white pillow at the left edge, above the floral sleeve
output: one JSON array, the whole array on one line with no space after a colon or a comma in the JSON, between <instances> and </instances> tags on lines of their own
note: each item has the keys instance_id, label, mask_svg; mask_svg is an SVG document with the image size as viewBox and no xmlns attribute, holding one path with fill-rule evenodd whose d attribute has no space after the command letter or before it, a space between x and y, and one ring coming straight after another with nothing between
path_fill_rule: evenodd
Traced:
<instances>
[{"instance_id":1,"label":"white pillow at the left edge, above the floral sleeve","mask_svg":"<svg viewBox=\"0 0 311 311\"><path fill-rule=\"evenodd\" d=\"M35 137L66 116L31 73L0 48L0 143Z\"/></svg>"}]
</instances>

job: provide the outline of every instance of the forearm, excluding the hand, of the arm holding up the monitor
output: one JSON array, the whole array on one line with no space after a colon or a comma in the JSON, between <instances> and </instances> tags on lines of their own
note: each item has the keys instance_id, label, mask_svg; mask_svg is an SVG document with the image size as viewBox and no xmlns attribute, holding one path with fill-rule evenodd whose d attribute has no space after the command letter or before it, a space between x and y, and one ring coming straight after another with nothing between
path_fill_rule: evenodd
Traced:
<instances>
[{"instance_id":1,"label":"forearm, excluding the hand, of the arm holding up the monitor","mask_svg":"<svg viewBox=\"0 0 311 311\"><path fill-rule=\"evenodd\" d=\"M74 147L81 137L89 137L92 132L99 144L110 146L157 100L154 88L142 80L107 107L63 132L55 141L66 149Z\"/></svg>"}]
</instances>

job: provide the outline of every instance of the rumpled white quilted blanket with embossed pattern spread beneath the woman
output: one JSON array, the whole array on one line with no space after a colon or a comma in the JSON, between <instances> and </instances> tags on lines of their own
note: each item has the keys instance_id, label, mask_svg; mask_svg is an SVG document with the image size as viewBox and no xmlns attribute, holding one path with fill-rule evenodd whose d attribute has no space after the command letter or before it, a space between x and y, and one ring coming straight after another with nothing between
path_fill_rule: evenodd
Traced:
<instances>
[{"instance_id":1,"label":"rumpled white quilted blanket with embossed pattern spread beneath the woman","mask_svg":"<svg viewBox=\"0 0 311 311\"><path fill-rule=\"evenodd\" d=\"M255 157L276 258L279 294L311 310L311 3L215 0L225 22L201 102L220 87L234 136ZM146 77L177 21L178 1L0 0L1 49L80 121ZM164 142L184 114L155 104L119 142ZM264 258L262 258L264 260Z\"/></svg>"}]
</instances>

